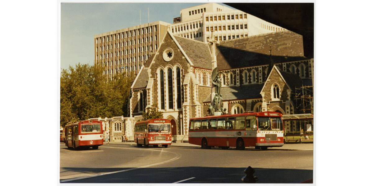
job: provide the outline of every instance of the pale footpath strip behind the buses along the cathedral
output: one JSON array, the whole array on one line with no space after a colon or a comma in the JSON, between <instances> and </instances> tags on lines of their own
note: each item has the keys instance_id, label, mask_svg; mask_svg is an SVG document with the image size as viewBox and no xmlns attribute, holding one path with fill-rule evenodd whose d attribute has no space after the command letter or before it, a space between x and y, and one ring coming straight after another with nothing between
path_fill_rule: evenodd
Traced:
<instances>
[{"instance_id":1,"label":"pale footpath strip behind the buses along the cathedral","mask_svg":"<svg viewBox=\"0 0 373 186\"><path fill-rule=\"evenodd\" d=\"M136 146L135 142L104 142L104 144L121 144L121 145L133 145ZM193 145L185 142L176 142L169 145L169 147L201 147L201 145ZM233 147L231 147L233 148ZM247 147L254 148L254 147ZM313 150L313 143L294 143L294 144L284 144L282 147L270 147L270 149L279 150Z\"/></svg>"}]
</instances>

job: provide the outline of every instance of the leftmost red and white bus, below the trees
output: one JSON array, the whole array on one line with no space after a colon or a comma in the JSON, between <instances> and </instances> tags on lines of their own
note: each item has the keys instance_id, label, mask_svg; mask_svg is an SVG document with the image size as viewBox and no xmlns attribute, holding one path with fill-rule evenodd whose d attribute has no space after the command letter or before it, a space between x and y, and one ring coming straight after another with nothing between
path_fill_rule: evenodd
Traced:
<instances>
[{"instance_id":1,"label":"leftmost red and white bus, below the trees","mask_svg":"<svg viewBox=\"0 0 373 186\"><path fill-rule=\"evenodd\" d=\"M65 145L74 150L80 148L97 149L104 144L102 122L86 120L65 126Z\"/></svg>"}]
</instances>

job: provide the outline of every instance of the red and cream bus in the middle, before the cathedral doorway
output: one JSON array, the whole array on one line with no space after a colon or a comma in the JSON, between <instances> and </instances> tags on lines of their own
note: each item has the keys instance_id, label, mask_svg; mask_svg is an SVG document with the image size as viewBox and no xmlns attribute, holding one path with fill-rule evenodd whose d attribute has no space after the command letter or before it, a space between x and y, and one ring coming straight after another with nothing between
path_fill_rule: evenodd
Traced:
<instances>
[{"instance_id":1,"label":"red and cream bus in the middle, before the cathedral doorway","mask_svg":"<svg viewBox=\"0 0 373 186\"><path fill-rule=\"evenodd\" d=\"M171 145L171 122L168 119L149 119L135 123L134 141L137 147L153 145L166 147Z\"/></svg>"}]
</instances>

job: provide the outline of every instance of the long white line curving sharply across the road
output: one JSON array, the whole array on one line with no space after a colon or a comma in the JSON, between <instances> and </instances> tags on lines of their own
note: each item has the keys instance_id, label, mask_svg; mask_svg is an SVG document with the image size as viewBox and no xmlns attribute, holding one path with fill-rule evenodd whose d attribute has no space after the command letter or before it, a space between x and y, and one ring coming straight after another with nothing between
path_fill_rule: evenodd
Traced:
<instances>
[{"instance_id":1,"label":"long white line curving sharply across the road","mask_svg":"<svg viewBox=\"0 0 373 186\"><path fill-rule=\"evenodd\" d=\"M105 147L105 148L125 148L125 147ZM127 148L127 149L137 149L137 148ZM126 169L126 170L119 170L119 171L114 171L114 172L109 172L109 173L94 174L92 176L77 177L77 178L62 180L62 181L60 181L60 183L62 183L62 182L69 182L69 181L73 181L73 180L85 179L85 178L89 178L89 177L103 176L103 175L106 175L106 174L114 174L114 173L120 173L120 172L130 171L130 170L142 169L142 168L145 168L145 167L151 167L151 166L160 165L160 164L163 164L163 163L168 163L168 162L175 161L175 160L181 158L181 154L173 153L173 152L168 152L168 151L163 151L163 149L162 150L153 150L153 149L143 149L142 148L142 149L137 149L137 150L160 151L160 152L164 152L164 153L176 154L177 156L175 158L172 158L170 160L163 161L163 162L160 162L160 163L154 163L154 164L151 164L151 165L141 166L141 167L132 168L132 169Z\"/></svg>"}]
</instances>

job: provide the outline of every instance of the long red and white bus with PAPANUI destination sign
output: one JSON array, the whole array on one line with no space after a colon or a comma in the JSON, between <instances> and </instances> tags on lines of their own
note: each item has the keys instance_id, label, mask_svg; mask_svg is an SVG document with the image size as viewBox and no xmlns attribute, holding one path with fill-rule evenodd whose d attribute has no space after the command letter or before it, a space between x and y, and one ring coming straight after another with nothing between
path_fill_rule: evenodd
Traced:
<instances>
[{"instance_id":1,"label":"long red and white bus with PAPANUI destination sign","mask_svg":"<svg viewBox=\"0 0 373 186\"><path fill-rule=\"evenodd\" d=\"M267 150L283 146L282 114L245 112L189 119L189 143L201 148L245 147Z\"/></svg>"}]
</instances>

